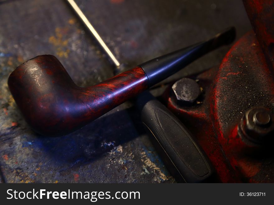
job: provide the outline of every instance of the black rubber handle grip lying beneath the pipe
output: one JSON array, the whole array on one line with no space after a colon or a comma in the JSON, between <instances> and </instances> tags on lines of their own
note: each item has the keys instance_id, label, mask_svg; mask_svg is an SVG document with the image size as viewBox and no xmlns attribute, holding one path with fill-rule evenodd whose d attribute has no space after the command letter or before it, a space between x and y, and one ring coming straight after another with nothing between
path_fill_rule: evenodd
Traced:
<instances>
[{"instance_id":1,"label":"black rubber handle grip lying beneath the pipe","mask_svg":"<svg viewBox=\"0 0 274 205\"><path fill-rule=\"evenodd\" d=\"M175 115L149 92L139 95L137 105L143 124L156 138L185 182L203 182L212 175L210 160Z\"/></svg>"}]
</instances>

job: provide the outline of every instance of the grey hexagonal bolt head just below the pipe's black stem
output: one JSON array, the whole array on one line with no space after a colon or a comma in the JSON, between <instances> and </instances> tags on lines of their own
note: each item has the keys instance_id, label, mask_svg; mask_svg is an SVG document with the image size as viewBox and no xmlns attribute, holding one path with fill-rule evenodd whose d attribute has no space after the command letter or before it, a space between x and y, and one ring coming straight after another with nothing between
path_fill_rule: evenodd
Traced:
<instances>
[{"instance_id":1,"label":"grey hexagonal bolt head just below the pipe's black stem","mask_svg":"<svg viewBox=\"0 0 274 205\"><path fill-rule=\"evenodd\" d=\"M177 103L187 105L192 104L201 94L198 83L190 78L182 78L172 85Z\"/></svg>"}]
</instances>

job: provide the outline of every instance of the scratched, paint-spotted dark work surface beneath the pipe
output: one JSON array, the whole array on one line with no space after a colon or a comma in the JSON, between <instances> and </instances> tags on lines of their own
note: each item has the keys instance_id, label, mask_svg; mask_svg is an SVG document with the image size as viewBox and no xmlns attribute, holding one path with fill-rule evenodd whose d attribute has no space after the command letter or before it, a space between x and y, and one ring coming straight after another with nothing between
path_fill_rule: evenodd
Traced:
<instances>
[{"instance_id":1,"label":"scratched, paint-spotted dark work surface beneath the pipe","mask_svg":"<svg viewBox=\"0 0 274 205\"><path fill-rule=\"evenodd\" d=\"M239 0L77 2L128 67L228 26L236 26L238 37L251 28ZM130 103L61 138L35 134L7 88L16 66L36 55L53 54L80 86L105 80L114 69L64 1L0 1L0 19L1 182L175 182ZM172 78L218 65L228 49L206 55Z\"/></svg>"}]
</instances>

